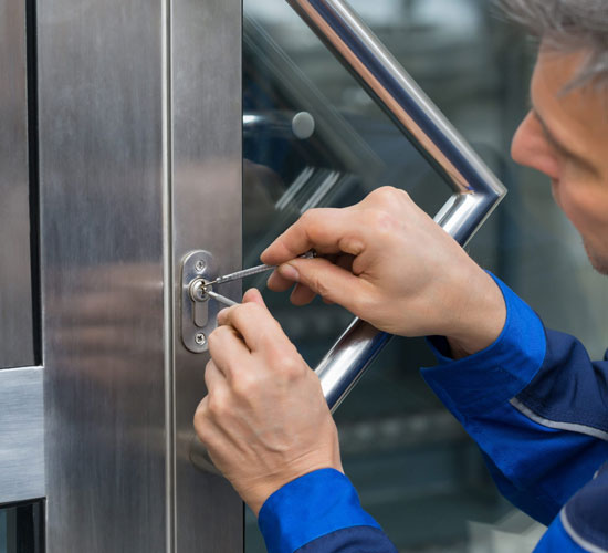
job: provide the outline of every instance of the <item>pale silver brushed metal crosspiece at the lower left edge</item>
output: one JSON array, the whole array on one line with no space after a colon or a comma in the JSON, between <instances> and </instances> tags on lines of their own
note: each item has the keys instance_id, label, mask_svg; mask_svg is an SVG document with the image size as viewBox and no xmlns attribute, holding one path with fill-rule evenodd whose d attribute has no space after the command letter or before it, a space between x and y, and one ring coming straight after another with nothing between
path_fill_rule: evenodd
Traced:
<instances>
[{"instance_id":1,"label":"pale silver brushed metal crosspiece at the lower left edge","mask_svg":"<svg viewBox=\"0 0 608 553\"><path fill-rule=\"evenodd\" d=\"M42 368L0 371L0 504L42 498Z\"/></svg>"}]
</instances>

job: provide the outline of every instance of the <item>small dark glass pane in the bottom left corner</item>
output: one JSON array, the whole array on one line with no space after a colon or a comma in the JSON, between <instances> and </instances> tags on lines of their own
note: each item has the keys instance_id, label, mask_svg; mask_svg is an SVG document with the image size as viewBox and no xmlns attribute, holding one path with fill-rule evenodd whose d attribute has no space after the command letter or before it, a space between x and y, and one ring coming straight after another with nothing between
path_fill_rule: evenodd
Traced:
<instances>
[{"instance_id":1,"label":"small dark glass pane in the bottom left corner","mask_svg":"<svg viewBox=\"0 0 608 553\"><path fill-rule=\"evenodd\" d=\"M42 501L0 508L0 553L44 553Z\"/></svg>"}]
</instances>

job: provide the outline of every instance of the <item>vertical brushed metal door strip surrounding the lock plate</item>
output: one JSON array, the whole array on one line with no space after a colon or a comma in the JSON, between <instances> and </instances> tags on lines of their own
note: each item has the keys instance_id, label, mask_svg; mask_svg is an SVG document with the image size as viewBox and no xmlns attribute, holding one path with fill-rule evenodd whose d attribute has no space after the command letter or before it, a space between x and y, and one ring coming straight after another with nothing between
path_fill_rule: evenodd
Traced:
<instances>
[{"instance_id":1,"label":"vertical brushed metal door strip surrounding the lock plate","mask_svg":"<svg viewBox=\"0 0 608 553\"><path fill-rule=\"evenodd\" d=\"M218 274L241 268L241 2L172 2L174 302L180 264L192 250L213 255ZM221 293L240 298L240 283ZM179 328L179 312L175 327ZM176 551L243 549L242 503L219 476L190 461L192 418L206 394L208 354L175 334Z\"/></svg>"}]
</instances>

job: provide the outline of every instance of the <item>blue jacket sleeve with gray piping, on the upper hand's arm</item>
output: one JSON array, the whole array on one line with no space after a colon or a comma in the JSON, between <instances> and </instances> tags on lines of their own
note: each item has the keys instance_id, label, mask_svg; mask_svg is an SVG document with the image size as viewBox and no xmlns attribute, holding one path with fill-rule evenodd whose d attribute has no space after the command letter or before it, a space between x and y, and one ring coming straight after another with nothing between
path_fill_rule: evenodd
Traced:
<instances>
[{"instance_id":1,"label":"blue jacket sleeve with gray piping, on the upper hand's arm","mask_svg":"<svg viewBox=\"0 0 608 553\"><path fill-rule=\"evenodd\" d=\"M608 459L608 362L593 363L573 336L545 330L504 283L507 317L494 344L422 369L478 442L501 492L549 524Z\"/></svg>"}]
</instances>

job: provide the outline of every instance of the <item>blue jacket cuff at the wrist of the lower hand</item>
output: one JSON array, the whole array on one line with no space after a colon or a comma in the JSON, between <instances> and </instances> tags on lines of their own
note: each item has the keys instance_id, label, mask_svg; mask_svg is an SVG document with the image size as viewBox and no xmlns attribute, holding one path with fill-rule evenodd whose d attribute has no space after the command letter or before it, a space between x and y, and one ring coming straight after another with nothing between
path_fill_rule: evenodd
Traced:
<instances>
[{"instance_id":1,"label":"blue jacket cuff at the wrist of the lower hand","mask_svg":"<svg viewBox=\"0 0 608 553\"><path fill-rule=\"evenodd\" d=\"M262 505L258 524L269 553L397 553L350 481L334 469L283 486Z\"/></svg>"}]
</instances>

